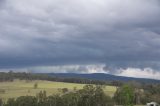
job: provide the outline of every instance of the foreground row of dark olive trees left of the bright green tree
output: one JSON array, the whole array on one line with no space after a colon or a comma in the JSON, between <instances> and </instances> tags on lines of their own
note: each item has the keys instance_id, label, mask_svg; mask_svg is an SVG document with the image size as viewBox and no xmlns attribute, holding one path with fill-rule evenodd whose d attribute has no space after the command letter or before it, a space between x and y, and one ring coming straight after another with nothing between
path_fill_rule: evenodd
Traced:
<instances>
[{"instance_id":1,"label":"foreground row of dark olive trees left of the bright green tree","mask_svg":"<svg viewBox=\"0 0 160 106\"><path fill-rule=\"evenodd\" d=\"M101 85L86 85L77 91L47 96L41 91L36 96L21 96L10 98L0 106L113 106L114 102L107 96Z\"/></svg>"}]
</instances>

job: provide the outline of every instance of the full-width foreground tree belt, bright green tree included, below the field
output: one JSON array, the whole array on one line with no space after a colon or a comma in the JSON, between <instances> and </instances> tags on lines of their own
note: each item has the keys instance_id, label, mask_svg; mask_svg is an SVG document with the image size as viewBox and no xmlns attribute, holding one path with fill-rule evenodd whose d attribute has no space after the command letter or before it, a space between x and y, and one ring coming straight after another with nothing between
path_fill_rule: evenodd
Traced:
<instances>
[{"instance_id":1,"label":"full-width foreground tree belt, bright green tree included, below the field","mask_svg":"<svg viewBox=\"0 0 160 106\"><path fill-rule=\"evenodd\" d=\"M124 84L113 97L107 96L103 89L103 85L85 85L81 90L69 91L66 88L62 94L51 96L41 91L36 96L10 98L4 103L0 99L0 106L134 106L151 101L160 103L160 89L148 91Z\"/></svg>"}]
</instances>

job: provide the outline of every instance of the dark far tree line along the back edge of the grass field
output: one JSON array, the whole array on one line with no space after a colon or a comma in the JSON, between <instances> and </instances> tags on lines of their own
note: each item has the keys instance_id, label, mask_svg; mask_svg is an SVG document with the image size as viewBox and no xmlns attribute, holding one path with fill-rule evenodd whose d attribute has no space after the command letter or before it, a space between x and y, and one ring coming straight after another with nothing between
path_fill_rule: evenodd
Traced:
<instances>
[{"instance_id":1,"label":"dark far tree line along the back edge of the grass field","mask_svg":"<svg viewBox=\"0 0 160 106\"><path fill-rule=\"evenodd\" d=\"M34 74L26 72L13 72L9 71L0 72L0 82L4 81L13 81L14 79L20 80L47 80L47 81L56 81L56 82L69 82L69 83L81 83L81 84L99 84L99 85L122 85L120 81L102 81L102 80L91 80L85 78L63 78L63 77L54 77L46 74Z\"/></svg>"}]
</instances>

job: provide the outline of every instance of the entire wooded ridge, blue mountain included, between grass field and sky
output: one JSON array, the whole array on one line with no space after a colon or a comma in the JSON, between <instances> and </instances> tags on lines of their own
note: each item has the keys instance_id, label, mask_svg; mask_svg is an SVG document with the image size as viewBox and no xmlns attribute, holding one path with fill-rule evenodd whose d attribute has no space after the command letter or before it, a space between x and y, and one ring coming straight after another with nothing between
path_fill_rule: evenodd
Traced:
<instances>
[{"instance_id":1,"label":"entire wooded ridge, blue mountain included, between grass field and sky","mask_svg":"<svg viewBox=\"0 0 160 106\"><path fill-rule=\"evenodd\" d=\"M14 79L21 80L48 80L58 82L85 83L85 84L106 84L111 82L130 82L136 81L139 83L160 84L160 80L132 78L114 76L110 74L94 73L94 74L75 74L75 73L14 73L12 71L5 73L0 72L1 81L13 81Z\"/></svg>"}]
</instances>

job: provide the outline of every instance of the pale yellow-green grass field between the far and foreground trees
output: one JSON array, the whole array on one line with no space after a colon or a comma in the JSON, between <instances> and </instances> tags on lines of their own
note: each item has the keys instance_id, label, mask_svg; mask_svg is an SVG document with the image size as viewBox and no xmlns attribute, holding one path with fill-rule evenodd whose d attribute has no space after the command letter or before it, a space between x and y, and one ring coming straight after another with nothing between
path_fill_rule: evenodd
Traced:
<instances>
[{"instance_id":1,"label":"pale yellow-green grass field between the far and foreground trees","mask_svg":"<svg viewBox=\"0 0 160 106\"><path fill-rule=\"evenodd\" d=\"M34 84L38 83L38 88L34 89ZM46 90L47 95L53 95L60 93L58 89L68 88L70 91L74 87L82 89L85 84L75 83L63 83L63 82L52 82L52 81L41 81L35 80L27 82L25 80L14 80L13 82L0 82L0 90L5 90L4 93L0 92L0 98L6 101L8 98L16 98L19 96L32 95L35 96L42 90ZM107 95L113 96L116 91L114 86L106 86L104 91Z\"/></svg>"}]
</instances>

